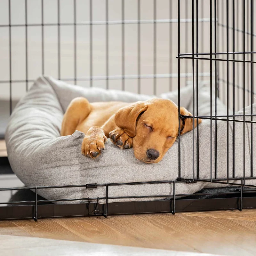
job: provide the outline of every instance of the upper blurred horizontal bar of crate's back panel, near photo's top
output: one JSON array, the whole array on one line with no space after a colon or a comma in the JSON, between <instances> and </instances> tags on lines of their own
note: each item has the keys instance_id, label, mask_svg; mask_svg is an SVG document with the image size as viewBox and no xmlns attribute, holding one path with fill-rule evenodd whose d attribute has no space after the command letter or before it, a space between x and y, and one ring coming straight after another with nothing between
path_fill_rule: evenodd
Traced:
<instances>
[{"instance_id":1,"label":"upper blurred horizontal bar of crate's back panel, near photo's top","mask_svg":"<svg viewBox=\"0 0 256 256\"><path fill-rule=\"evenodd\" d=\"M211 19L198 19L198 22L210 22ZM212 19L212 22L214 19ZM182 23L192 22L192 19L182 19ZM83 25L113 25L113 24L153 24L153 23L178 23L178 19L162 20L102 20L102 21L84 21L84 22L63 22L63 23L31 23L31 24L4 24L1 27L36 27L36 26L83 26Z\"/></svg>"}]
</instances>

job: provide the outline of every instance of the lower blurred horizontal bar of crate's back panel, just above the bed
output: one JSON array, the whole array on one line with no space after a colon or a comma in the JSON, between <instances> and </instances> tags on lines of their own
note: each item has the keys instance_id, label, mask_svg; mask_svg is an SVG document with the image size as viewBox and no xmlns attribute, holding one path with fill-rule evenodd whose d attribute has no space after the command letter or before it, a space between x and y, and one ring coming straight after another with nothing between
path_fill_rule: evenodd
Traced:
<instances>
[{"instance_id":1,"label":"lower blurred horizontal bar of crate's back panel, just above the bed","mask_svg":"<svg viewBox=\"0 0 256 256\"><path fill-rule=\"evenodd\" d=\"M196 76L196 73L195 73ZM210 76L209 72L199 73L200 77L208 77ZM214 74L212 73L212 76ZM178 77L178 73L173 74L149 74L149 75L124 75L124 76L85 76L85 77L77 77L76 81L90 81L90 80L118 80L118 79L138 79L138 78L176 78ZM192 73L182 73L180 77L192 77ZM62 81L73 81L75 78L61 78ZM34 82L35 80L0 80L0 84L3 83L26 83L26 82Z\"/></svg>"}]
</instances>

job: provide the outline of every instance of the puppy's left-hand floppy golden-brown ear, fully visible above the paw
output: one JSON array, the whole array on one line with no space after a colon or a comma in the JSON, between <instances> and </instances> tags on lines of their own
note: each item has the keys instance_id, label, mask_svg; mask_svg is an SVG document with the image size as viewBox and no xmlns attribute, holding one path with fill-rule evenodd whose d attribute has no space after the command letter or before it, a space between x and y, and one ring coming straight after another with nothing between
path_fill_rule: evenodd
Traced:
<instances>
[{"instance_id":1,"label":"puppy's left-hand floppy golden-brown ear, fully visible above the paw","mask_svg":"<svg viewBox=\"0 0 256 256\"><path fill-rule=\"evenodd\" d=\"M138 101L132 105L121 108L116 112L115 123L123 129L128 136L136 135L136 121L138 116L146 111L148 106L143 101Z\"/></svg>"}]
</instances>

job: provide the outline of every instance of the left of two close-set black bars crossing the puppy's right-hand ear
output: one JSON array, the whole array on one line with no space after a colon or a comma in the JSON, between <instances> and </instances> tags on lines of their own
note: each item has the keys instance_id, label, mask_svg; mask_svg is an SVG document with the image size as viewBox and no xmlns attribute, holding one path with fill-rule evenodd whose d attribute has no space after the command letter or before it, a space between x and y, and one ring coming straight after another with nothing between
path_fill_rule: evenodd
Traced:
<instances>
[{"instance_id":1,"label":"left of two close-set black bars crossing the puppy's right-hand ear","mask_svg":"<svg viewBox=\"0 0 256 256\"><path fill-rule=\"evenodd\" d=\"M195 10L194 6L195 0L192 0L192 86L193 86L193 129L192 129L192 170L193 170L193 180L195 180L195 28L194 28L194 19L195 19Z\"/></svg>"}]
</instances>

